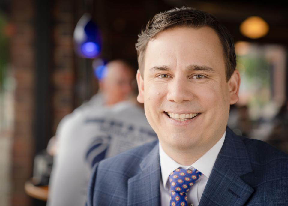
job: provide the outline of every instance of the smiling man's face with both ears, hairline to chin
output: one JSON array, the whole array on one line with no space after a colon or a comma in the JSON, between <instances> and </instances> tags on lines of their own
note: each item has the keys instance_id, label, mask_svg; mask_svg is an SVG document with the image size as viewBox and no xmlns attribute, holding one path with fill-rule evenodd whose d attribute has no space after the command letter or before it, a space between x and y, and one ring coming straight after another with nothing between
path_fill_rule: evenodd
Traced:
<instances>
[{"instance_id":1,"label":"smiling man's face with both ears, hairline to chin","mask_svg":"<svg viewBox=\"0 0 288 206\"><path fill-rule=\"evenodd\" d=\"M209 149L220 139L240 83L238 72L226 82L225 68L212 28L176 27L149 41L138 101L163 148Z\"/></svg>"}]
</instances>

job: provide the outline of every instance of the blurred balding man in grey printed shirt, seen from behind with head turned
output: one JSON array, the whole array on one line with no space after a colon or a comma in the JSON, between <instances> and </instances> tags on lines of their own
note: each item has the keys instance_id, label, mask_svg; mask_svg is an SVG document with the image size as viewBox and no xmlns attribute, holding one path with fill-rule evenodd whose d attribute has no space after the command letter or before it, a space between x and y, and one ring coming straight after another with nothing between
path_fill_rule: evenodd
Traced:
<instances>
[{"instance_id":1,"label":"blurred balding man in grey printed shirt, seen from behind with head turned","mask_svg":"<svg viewBox=\"0 0 288 206\"><path fill-rule=\"evenodd\" d=\"M135 94L122 101L132 91L132 69L122 61L110 62L107 67L107 76L100 82L101 96L67 115L57 128L49 206L85 205L95 163L157 138Z\"/></svg>"}]
</instances>

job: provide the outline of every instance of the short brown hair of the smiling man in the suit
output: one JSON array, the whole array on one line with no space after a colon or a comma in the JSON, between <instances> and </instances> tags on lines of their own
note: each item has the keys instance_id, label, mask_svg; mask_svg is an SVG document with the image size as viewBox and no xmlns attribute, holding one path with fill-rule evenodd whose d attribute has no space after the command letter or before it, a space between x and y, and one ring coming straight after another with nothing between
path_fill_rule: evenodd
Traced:
<instances>
[{"instance_id":1,"label":"short brown hair of the smiling man in the suit","mask_svg":"<svg viewBox=\"0 0 288 206\"><path fill-rule=\"evenodd\" d=\"M149 20L146 27L138 35L136 51L138 55L139 70L142 77L144 73L145 50L149 40L154 38L161 31L178 26L192 28L209 26L216 31L223 46L226 60L226 79L228 81L236 67L234 43L230 32L211 14L190 7L173 8L156 14Z\"/></svg>"}]
</instances>

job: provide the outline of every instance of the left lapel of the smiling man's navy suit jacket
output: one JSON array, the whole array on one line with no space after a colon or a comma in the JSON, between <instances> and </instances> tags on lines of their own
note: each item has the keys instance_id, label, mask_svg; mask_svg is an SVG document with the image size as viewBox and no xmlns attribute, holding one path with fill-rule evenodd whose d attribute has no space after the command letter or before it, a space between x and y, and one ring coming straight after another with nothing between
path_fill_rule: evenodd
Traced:
<instances>
[{"instance_id":1,"label":"left lapel of the smiling man's navy suit jacket","mask_svg":"<svg viewBox=\"0 0 288 206\"><path fill-rule=\"evenodd\" d=\"M128 180L128 205L160 206L160 160L159 144L140 164L138 175Z\"/></svg>"}]
</instances>

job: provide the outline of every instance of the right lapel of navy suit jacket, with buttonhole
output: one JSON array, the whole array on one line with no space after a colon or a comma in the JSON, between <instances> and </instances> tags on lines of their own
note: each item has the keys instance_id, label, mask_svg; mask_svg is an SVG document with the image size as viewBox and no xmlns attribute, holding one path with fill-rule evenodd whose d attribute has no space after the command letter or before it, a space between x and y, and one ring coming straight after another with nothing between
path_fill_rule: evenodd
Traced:
<instances>
[{"instance_id":1,"label":"right lapel of navy suit jacket, with buttonhole","mask_svg":"<svg viewBox=\"0 0 288 206\"><path fill-rule=\"evenodd\" d=\"M199 206L244 205L254 189L246 184L241 176L250 172L253 171L244 142L227 127L225 141Z\"/></svg>"}]
</instances>

